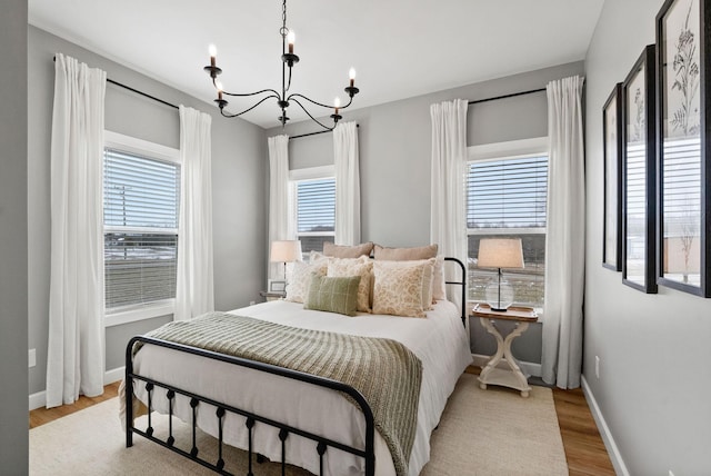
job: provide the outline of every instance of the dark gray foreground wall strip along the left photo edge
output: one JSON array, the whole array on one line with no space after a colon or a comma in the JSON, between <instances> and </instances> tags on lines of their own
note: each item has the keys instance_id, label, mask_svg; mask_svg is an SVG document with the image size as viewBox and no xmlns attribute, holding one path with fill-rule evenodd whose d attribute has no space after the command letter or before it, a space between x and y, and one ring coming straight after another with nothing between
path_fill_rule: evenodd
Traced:
<instances>
[{"instance_id":1,"label":"dark gray foreground wall strip along the left photo edge","mask_svg":"<svg viewBox=\"0 0 711 476\"><path fill-rule=\"evenodd\" d=\"M0 472L27 474L27 0L0 14Z\"/></svg>"}]
</instances>

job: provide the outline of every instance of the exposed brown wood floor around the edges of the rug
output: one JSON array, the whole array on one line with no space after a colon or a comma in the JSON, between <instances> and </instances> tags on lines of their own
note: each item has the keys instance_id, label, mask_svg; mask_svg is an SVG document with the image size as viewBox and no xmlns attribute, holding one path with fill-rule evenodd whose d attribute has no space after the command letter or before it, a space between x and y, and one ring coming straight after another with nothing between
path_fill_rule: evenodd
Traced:
<instances>
[{"instance_id":1,"label":"exposed brown wood floor around the edges of the rug","mask_svg":"<svg viewBox=\"0 0 711 476\"><path fill-rule=\"evenodd\" d=\"M479 374L478 367L470 367L470 374ZM100 397L80 397L73 405L30 411L30 428L79 411L118 395L119 383L107 385ZM570 476L614 476L614 469L604 448L582 389L553 389L558 424L565 448Z\"/></svg>"}]
</instances>

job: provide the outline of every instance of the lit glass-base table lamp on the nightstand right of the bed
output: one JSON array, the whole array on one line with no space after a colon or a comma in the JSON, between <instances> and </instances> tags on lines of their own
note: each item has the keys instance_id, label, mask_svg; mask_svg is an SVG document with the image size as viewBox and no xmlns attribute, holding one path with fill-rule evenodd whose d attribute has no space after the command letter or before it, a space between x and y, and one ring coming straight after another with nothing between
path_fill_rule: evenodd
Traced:
<instances>
[{"instance_id":1,"label":"lit glass-base table lamp on the nightstand right of the bed","mask_svg":"<svg viewBox=\"0 0 711 476\"><path fill-rule=\"evenodd\" d=\"M523 268L523 249L520 238L483 238L479 241L480 268L498 268L498 280L487 286L485 299L491 310L505 313L513 303L513 288L502 279L501 268Z\"/></svg>"}]
</instances>

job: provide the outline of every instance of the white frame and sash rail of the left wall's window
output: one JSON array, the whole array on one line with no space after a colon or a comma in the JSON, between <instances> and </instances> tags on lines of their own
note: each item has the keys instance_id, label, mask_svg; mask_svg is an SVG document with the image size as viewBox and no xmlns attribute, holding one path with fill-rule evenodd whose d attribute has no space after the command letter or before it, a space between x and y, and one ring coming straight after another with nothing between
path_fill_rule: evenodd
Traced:
<instances>
[{"instance_id":1,"label":"white frame and sash rail of the left wall's window","mask_svg":"<svg viewBox=\"0 0 711 476\"><path fill-rule=\"evenodd\" d=\"M156 142L150 142L143 139L138 139L131 136L124 136L122 133L118 133L109 130L104 130L103 135L104 135L103 136L104 150L118 149L124 152L143 156L149 159L173 162L173 163L177 163L179 167L181 166L179 149L168 147L168 146L162 146ZM102 160L103 160L103 156L102 156ZM182 172L182 169L181 169L181 172ZM119 231L119 230L126 231L127 228L116 228L111 226L107 227L102 222L102 226L101 226L102 236L104 236L107 232ZM133 230L137 230L137 229L133 228ZM143 230L143 229L140 228L140 230ZM167 231L167 230L161 230L161 231ZM178 229L174 229L174 232L176 235L179 235ZM176 310L176 299L174 298L161 299L161 300L156 300L156 301L151 301L143 305L122 306L116 309L117 310L109 310L106 308L106 304L104 304L104 309L103 309L104 327L119 326L122 324L134 323L138 320L152 319L156 317L171 315Z\"/></svg>"}]
</instances>

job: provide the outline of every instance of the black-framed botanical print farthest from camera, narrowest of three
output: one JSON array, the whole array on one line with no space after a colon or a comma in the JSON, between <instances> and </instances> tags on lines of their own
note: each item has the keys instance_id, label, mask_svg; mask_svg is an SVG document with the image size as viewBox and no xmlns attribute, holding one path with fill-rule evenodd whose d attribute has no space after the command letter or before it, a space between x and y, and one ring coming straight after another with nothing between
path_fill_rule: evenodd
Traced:
<instances>
[{"instance_id":1,"label":"black-framed botanical print farthest from camera, narrowest of three","mask_svg":"<svg viewBox=\"0 0 711 476\"><path fill-rule=\"evenodd\" d=\"M622 83L614 86L602 107L603 221L602 266L622 269Z\"/></svg>"}]
</instances>

